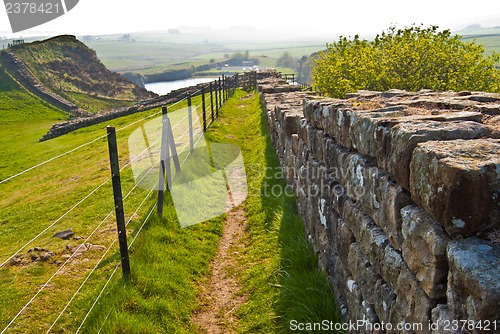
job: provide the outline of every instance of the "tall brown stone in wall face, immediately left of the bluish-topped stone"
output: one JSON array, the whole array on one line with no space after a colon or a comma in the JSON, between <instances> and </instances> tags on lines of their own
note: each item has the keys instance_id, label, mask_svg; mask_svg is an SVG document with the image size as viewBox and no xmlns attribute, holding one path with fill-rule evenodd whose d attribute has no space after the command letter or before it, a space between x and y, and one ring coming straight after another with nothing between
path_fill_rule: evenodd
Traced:
<instances>
[{"instance_id":1,"label":"tall brown stone in wall face, immediately left of the bluish-topped stone","mask_svg":"<svg viewBox=\"0 0 500 334\"><path fill-rule=\"evenodd\" d=\"M450 240L442 227L416 206L401 209L403 217L403 259L433 299L446 296Z\"/></svg>"}]
</instances>

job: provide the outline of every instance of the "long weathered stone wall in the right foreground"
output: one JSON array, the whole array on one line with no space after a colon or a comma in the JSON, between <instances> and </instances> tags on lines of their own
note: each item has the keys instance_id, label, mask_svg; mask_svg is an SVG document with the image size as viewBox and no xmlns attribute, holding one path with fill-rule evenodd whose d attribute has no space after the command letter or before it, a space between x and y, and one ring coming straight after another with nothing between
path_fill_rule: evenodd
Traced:
<instances>
[{"instance_id":1,"label":"long weathered stone wall in the right foreground","mask_svg":"<svg viewBox=\"0 0 500 334\"><path fill-rule=\"evenodd\" d=\"M500 95L260 89L344 320L379 325L355 332L500 330Z\"/></svg>"}]
</instances>

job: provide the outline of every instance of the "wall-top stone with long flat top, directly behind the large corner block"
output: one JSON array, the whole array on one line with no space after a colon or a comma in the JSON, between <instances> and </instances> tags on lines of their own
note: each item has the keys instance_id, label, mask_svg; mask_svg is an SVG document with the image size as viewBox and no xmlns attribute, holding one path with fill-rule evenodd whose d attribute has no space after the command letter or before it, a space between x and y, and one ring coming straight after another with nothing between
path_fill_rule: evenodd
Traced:
<instances>
[{"instance_id":1,"label":"wall-top stone with long flat top, directly behind the large corner block","mask_svg":"<svg viewBox=\"0 0 500 334\"><path fill-rule=\"evenodd\" d=\"M477 139L489 133L486 126L470 121L415 121L396 124L378 141L377 161L394 180L409 190L410 162L418 143L429 140Z\"/></svg>"}]
</instances>

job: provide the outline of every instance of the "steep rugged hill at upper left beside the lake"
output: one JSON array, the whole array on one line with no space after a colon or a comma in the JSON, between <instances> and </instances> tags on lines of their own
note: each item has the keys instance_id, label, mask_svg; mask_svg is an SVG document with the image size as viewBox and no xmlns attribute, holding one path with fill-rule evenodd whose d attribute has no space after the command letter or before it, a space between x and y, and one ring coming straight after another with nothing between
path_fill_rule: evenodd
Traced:
<instances>
[{"instance_id":1,"label":"steep rugged hill at upper left beside the lake","mask_svg":"<svg viewBox=\"0 0 500 334\"><path fill-rule=\"evenodd\" d=\"M8 48L0 53L0 65L28 90L79 116L156 97L108 70L95 51L74 36Z\"/></svg>"}]
</instances>

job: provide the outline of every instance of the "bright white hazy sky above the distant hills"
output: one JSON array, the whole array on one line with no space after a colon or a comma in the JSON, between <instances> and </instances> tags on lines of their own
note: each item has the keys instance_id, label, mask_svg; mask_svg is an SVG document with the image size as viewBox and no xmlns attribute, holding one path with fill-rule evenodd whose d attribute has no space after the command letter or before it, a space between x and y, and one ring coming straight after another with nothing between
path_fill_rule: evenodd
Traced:
<instances>
[{"instance_id":1,"label":"bright white hazy sky above the distant hills","mask_svg":"<svg viewBox=\"0 0 500 334\"><path fill-rule=\"evenodd\" d=\"M403 27L423 23L457 29L477 22L500 25L500 1L80 0L66 15L17 34L12 34L7 14L2 10L0 36L125 33L179 26L251 26L275 31L287 28L293 31L290 36L370 35L391 24Z\"/></svg>"}]
</instances>

